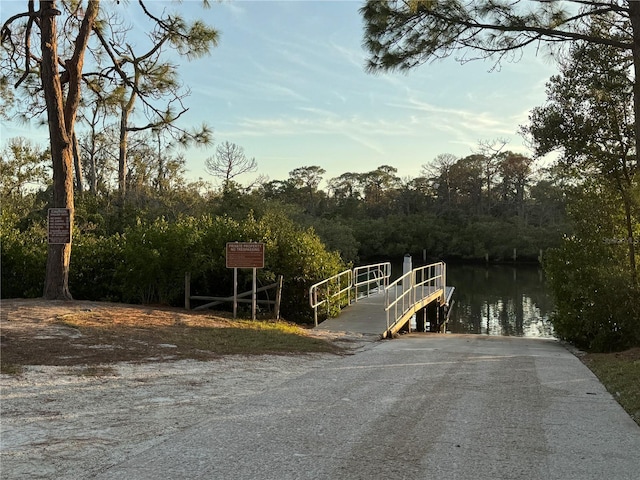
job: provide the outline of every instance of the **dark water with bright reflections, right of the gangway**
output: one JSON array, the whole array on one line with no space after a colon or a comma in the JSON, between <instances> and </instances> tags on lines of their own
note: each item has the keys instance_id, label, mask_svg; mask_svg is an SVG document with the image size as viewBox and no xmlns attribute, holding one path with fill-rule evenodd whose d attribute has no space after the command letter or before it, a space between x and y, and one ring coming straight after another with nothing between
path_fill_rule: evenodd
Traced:
<instances>
[{"instance_id":1,"label":"dark water with bright reflections, right of the gangway","mask_svg":"<svg viewBox=\"0 0 640 480\"><path fill-rule=\"evenodd\" d=\"M449 264L447 283L456 288L452 333L553 337L553 303L541 269Z\"/></svg>"}]
</instances>

